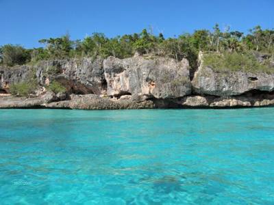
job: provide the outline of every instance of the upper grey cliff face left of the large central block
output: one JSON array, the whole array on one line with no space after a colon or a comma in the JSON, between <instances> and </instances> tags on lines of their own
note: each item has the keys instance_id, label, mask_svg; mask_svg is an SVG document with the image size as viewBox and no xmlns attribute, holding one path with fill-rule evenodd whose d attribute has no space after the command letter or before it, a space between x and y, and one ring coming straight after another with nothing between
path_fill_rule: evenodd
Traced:
<instances>
[{"instance_id":1,"label":"upper grey cliff face left of the large central block","mask_svg":"<svg viewBox=\"0 0 274 205\"><path fill-rule=\"evenodd\" d=\"M42 86L58 81L71 93L101 94L106 90L103 59L100 58L49 60L34 66L1 67L0 89L8 90L12 83L27 81L33 76Z\"/></svg>"}]
</instances>

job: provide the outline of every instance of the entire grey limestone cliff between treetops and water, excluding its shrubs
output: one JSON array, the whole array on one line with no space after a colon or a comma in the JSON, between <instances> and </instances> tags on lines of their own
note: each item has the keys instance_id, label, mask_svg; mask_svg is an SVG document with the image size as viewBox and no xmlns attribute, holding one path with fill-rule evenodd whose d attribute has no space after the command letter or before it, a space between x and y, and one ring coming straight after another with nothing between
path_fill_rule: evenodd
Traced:
<instances>
[{"instance_id":1,"label":"entire grey limestone cliff between treetops and water, excluding its shrubs","mask_svg":"<svg viewBox=\"0 0 274 205\"><path fill-rule=\"evenodd\" d=\"M137 56L95 60L41 61L36 65L0 68L0 108L164 109L228 108L274 105L274 74L216 71L203 66L193 72L187 59ZM11 96L10 85L34 75L37 91ZM47 89L58 81L66 92Z\"/></svg>"}]
</instances>

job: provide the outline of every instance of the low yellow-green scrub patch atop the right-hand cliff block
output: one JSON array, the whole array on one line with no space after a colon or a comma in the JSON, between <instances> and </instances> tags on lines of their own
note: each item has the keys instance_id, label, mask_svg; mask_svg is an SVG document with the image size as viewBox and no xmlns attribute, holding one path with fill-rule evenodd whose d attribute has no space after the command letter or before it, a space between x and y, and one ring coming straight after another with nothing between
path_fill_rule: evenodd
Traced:
<instances>
[{"instance_id":1,"label":"low yellow-green scrub patch atop the right-hand cliff block","mask_svg":"<svg viewBox=\"0 0 274 205\"><path fill-rule=\"evenodd\" d=\"M203 60L205 66L210 66L216 71L274 72L269 65L260 64L252 53L206 53Z\"/></svg>"}]
</instances>

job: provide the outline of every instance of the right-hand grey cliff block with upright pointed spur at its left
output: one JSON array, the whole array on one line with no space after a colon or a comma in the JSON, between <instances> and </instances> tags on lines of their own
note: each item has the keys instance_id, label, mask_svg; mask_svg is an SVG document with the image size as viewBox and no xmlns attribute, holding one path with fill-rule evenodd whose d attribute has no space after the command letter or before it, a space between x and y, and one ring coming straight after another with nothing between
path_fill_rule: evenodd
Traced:
<instances>
[{"instance_id":1,"label":"right-hand grey cliff block with upright pointed spur at its left","mask_svg":"<svg viewBox=\"0 0 274 205\"><path fill-rule=\"evenodd\" d=\"M236 96L250 90L272 92L274 74L242 71L216 72L209 66L203 66L201 59L201 64L192 79L192 89L197 94L214 96Z\"/></svg>"}]
</instances>

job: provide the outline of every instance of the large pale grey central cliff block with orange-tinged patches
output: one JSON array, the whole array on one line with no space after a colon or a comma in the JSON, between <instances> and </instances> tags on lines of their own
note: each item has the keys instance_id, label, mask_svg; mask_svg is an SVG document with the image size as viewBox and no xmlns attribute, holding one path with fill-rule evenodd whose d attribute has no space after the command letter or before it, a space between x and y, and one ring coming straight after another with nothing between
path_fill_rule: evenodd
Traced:
<instances>
[{"instance_id":1,"label":"large pale grey central cliff block with orange-tinged patches","mask_svg":"<svg viewBox=\"0 0 274 205\"><path fill-rule=\"evenodd\" d=\"M103 61L108 96L132 94L133 100L178 98L190 94L189 65L186 59L157 57L108 57Z\"/></svg>"}]
</instances>

